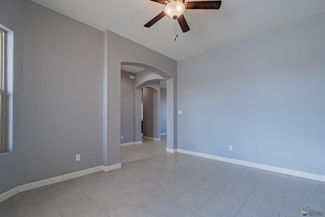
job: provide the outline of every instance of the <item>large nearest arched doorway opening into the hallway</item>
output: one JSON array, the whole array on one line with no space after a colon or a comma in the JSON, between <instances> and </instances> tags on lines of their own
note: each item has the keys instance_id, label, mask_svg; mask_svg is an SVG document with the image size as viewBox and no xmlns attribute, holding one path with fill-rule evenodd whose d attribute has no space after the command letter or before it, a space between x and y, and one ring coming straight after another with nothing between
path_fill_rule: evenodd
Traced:
<instances>
[{"instance_id":1,"label":"large nearest arched doorway opening into the hallway","mask_svg":"<svg viewBox=\"0 0 325 217\"><path fill-rule=\"evenodd\" d=\"M173 149L173 92L173 79L163 71L140 63L121 63L121 146L140 144L142 136L152 140L163 136L167 150Z\"/></svg>"}]
</instances>

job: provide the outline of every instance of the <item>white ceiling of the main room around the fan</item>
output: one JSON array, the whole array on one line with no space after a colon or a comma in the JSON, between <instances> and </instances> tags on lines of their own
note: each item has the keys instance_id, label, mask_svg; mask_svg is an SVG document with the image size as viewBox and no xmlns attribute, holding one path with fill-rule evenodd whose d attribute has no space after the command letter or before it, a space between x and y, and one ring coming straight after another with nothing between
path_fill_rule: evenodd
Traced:
<instances>
[{"instance_id":1,"label":"white ceiling of the main room around the fan","mask_svg":"<svg viewBox=\"0 0 325 217\"><path fill-rule=\"evenodd\" d=\"M31 1L102 31L109 29L175 60L325 11L324 0L224 0L219 10L186 10L190 30L183 33L179 28L174 42L170 17L150 28L143 26L164 10L164 5L149 0Z\"/></svg>"}]
</instances>

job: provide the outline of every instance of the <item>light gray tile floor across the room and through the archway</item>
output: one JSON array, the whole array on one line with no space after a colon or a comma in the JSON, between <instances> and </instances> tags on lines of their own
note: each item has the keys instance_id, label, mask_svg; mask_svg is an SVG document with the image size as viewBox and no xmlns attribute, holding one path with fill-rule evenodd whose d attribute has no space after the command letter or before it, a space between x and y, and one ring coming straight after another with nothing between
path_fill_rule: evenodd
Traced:
<instances>
[{"instance_id":1,"label":"light gray tile floor across the room and through the archway","mask_svg":"<svg viewBox=\"0 0 325 217\"><path fill-rule=\"evenodd\" d=\"M323 213L325 183L181 153L121 148L122 168L19 193L0 216L302 216Z\"/></svg>"}]
</instances>

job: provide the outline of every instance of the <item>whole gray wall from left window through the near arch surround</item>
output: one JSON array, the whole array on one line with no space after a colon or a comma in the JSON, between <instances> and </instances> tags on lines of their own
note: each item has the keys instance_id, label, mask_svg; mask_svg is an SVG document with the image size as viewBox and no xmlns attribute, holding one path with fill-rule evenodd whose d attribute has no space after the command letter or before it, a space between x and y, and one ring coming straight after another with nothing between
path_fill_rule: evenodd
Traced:
<instances>
[{"instance_id":1,"label":"whole gray wall from left window through the near arch surround","mask_svg":"<svg viewBox=\"0 0 325 217\"><path fill-rule=\"evenodd\" d=\"M166 72L176 102L176 61L120 35L26 0L2 0L0 23L15 31L13 152L0 155L0 193L120 162L121 62Z\"/></svg>"}]
</instances>

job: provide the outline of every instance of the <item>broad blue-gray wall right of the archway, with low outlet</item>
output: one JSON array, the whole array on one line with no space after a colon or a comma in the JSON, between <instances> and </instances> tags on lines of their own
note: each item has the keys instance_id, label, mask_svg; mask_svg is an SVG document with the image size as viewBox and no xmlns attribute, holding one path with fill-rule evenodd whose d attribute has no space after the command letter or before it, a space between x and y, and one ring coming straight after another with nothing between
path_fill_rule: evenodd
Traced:
<instances>
[{"instance_id":1,"label":"broad blue-gray wall right of the archway, with low outlet","mask_svg":"<svg viewBox=\"0 0 325 217\"><path fill-rule=\"evenodd\" d=\"M178 148L325 175L324 20L178 61Z\"/></svg>"}]
</instances>

